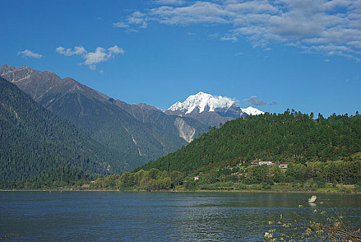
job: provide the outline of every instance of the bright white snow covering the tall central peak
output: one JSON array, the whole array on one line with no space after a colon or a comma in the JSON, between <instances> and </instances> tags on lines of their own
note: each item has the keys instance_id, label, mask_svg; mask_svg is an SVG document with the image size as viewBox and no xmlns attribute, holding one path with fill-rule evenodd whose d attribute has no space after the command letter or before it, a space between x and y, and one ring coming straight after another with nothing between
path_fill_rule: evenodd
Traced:
<instances>
[{"instance_id":1,"label":"bright white snow covering the tall central peak","mask_svg":"<svg viewBox=\"0 0 361 242\"><path fill-rule=\"evenodd\" d=\"M185 114L188 114L198 108L199 113L202 113L208 106L208 111L214 112L215 109L230 109L235 103L230 97L214 96L200 91L196 95L187 97L184 102L176 102L168 110L183 111Z\"/></svg>"}]
</instances>

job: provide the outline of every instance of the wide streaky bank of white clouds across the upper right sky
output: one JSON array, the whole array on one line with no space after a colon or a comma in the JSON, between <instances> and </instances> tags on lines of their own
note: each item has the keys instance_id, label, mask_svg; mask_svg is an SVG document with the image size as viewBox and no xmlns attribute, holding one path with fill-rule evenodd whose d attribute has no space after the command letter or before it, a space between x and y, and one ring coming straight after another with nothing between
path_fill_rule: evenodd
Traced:
<instances>
[{"instance_id":1,"label":"wide streaky bank of white clouds across the upper right sky","mask_svg":"<svg viewBox=\"0 0 361 242\"><path fill-rule=\"evenodd\" d=\"M221 40L246 38L254 47L265 49L276 42L308 53L361 58L360 0L158 0L154 3L158 6L135 11L113 26L140 30L150 23L206 28L218 25L225 30L220 33L224 36Z\"/></svg>"}]
</instances>

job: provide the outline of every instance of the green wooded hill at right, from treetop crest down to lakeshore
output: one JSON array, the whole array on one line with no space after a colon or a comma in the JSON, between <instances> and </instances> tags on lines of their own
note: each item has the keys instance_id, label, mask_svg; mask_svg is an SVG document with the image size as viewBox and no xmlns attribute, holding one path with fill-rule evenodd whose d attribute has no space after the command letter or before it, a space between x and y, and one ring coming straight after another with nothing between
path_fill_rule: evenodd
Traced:
<instances>
[{"instance_id":1,"label":"green wooded hill at right, from treetop crest down to lakeshore","mask_svg":"<svg viewBox=\"0 0 361 242\"><path fill-rule=\"evenodd\" d=\"M171 178L167 187L156 186L158 176L154 176L148 189L136 181L118 184L114 177L115 186L95 182L94 187L359 192L360 136L359 115L313 119L312 113L286 111L249 116L226 122L220 129L211 128L187 147L129 173L152 171L171 178L169 174L177 172L183 177L180 183ZM259 160L271 160L273 165L251 165ZM281 163L288 168L280 168Z\"/></svg>"}]
</instances>

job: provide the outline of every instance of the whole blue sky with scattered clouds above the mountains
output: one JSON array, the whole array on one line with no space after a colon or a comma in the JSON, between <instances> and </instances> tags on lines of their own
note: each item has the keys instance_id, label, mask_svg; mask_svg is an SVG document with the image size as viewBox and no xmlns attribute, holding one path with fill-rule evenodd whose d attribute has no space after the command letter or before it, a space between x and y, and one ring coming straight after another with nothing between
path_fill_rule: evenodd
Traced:
<instances>
[{"instance_id":1,"label":"whole blue sky with scattered clouds above the mountains","mask_svg":"<svg viewBox=\"0 0 361 242\"><path fill-rule=\"evenodd\" d=\"M1 1L0 65L167 109L204 91L241 107L361 111L361 1ZM259 106L257 106L259 105Z\"/></svg>"}]
</instances>

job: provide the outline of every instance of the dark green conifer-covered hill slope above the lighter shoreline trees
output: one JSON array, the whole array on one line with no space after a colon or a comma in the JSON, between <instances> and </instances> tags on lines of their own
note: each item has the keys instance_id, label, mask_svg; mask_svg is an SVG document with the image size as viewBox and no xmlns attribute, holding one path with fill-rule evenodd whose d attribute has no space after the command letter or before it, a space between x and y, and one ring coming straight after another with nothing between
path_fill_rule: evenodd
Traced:
<instances>
[{"instance_id":1,"label":"dark green conifer-covered hill slope above the lighter shoreline trees","mask_svg":"<svg viewBox=\"0 0 361 242\"><path fill-rule=\"evenodd\" d=\"M222 161L234 165L253 160L296 163L340 160L361 150L360 137L360 115L331 115L327 119L319 115L313 119L313 113L266 113L226 122L187 147L136 170L156 168L189 174Z\"/></svg>"}]
</instances>

